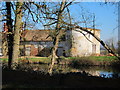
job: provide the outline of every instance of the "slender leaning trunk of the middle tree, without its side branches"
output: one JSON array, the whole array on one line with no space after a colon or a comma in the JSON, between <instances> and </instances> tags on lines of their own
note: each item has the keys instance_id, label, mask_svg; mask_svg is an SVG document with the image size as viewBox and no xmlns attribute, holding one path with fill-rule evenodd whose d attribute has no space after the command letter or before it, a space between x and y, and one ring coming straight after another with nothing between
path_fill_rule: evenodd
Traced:
<instances>
[{"instance_id":1,"label":"slender leaning trunk of the middle tree, without its side branches","mask_svg":"<svg viewBox=\"0 0 120 90\"><path fill-rule=\"evenodd\" d=\"M53 66L55 64L55 61L56 61L56 51L58 49L58 44L59 44L59 39L60 39L60 25L61 25L61 17L62 17L62 12L64 11L64 7L65 7L65 1L66 0L62 0L61 2L61 6L60 6L60 10L59 10L59 13L58 13L58 19L57 19L57 25L56 25L56 33L57 33L57 36L54 38L54 47L53 47L53 50L52 50L52 58L51 58L51 65L50 65L50 68L49 68L49 74L52 75L52 71L53 71Z\"/></svg>"}]
</instances>

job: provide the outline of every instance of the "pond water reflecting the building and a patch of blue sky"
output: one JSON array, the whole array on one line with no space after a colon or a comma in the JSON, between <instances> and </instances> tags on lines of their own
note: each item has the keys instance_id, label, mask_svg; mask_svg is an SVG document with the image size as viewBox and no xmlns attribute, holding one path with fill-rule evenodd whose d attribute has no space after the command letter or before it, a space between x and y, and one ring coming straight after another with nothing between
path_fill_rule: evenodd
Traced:
<instances>
[{"instance_id":1,"label":"pond water reflecting the building and a patch of blue sky","mask_svg":"<svg viewBox=\"0 0 120 90\"><path fill-rule=\"evenodd\" d=\"M18 70L23 71L35 71L39 72L48 72L48 64L22 64L17 68ZM88 76L98 76L103 78L119 78L120 71L112 67L105 66L80 66L79 68L73 68L68 65L55 65L53 73L85 73Z\"/></svg>"}]
</instances>

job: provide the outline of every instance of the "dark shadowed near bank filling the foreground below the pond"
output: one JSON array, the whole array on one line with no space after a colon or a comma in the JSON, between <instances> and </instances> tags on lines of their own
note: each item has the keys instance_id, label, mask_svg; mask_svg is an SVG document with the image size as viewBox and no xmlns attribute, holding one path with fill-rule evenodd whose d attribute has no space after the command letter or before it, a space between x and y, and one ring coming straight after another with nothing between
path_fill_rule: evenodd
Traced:
<instances>
[{"instance_id":1,"label":"dark shadowed near bank filling the foreground below the pond","mask_svg":"<svg viewBox=\"0 0 120 90\"><path fill-rule=\"evenodd\" d=\"M86 72L54 74L2 70L3 88L120 88L120 78L89 76Z\"/></svg>"}]
</instances>

